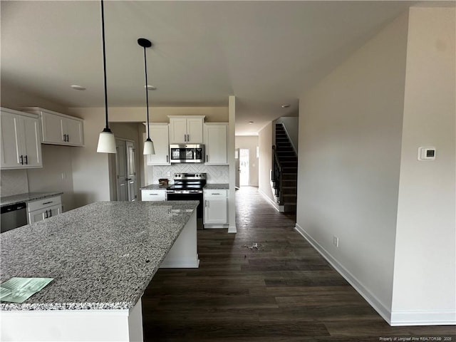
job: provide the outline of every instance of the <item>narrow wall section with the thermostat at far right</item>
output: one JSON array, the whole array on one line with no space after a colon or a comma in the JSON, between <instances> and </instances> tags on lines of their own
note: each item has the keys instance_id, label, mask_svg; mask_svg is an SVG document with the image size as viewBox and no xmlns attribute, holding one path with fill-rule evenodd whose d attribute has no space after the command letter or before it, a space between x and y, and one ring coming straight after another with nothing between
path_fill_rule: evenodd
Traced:
<instances>
[{"instance_id":1,"label":"narrow wall section with the thermostat at far right","mask_svg":"<svg viewBox=\"0 0 456 342\"><path fill-rule=\"evenodd\" d=\"M393 323L456 323L454 8L412 8L393 286ZM418 161L418 147L436 147Z\"/></svg>"}]
</instances>

